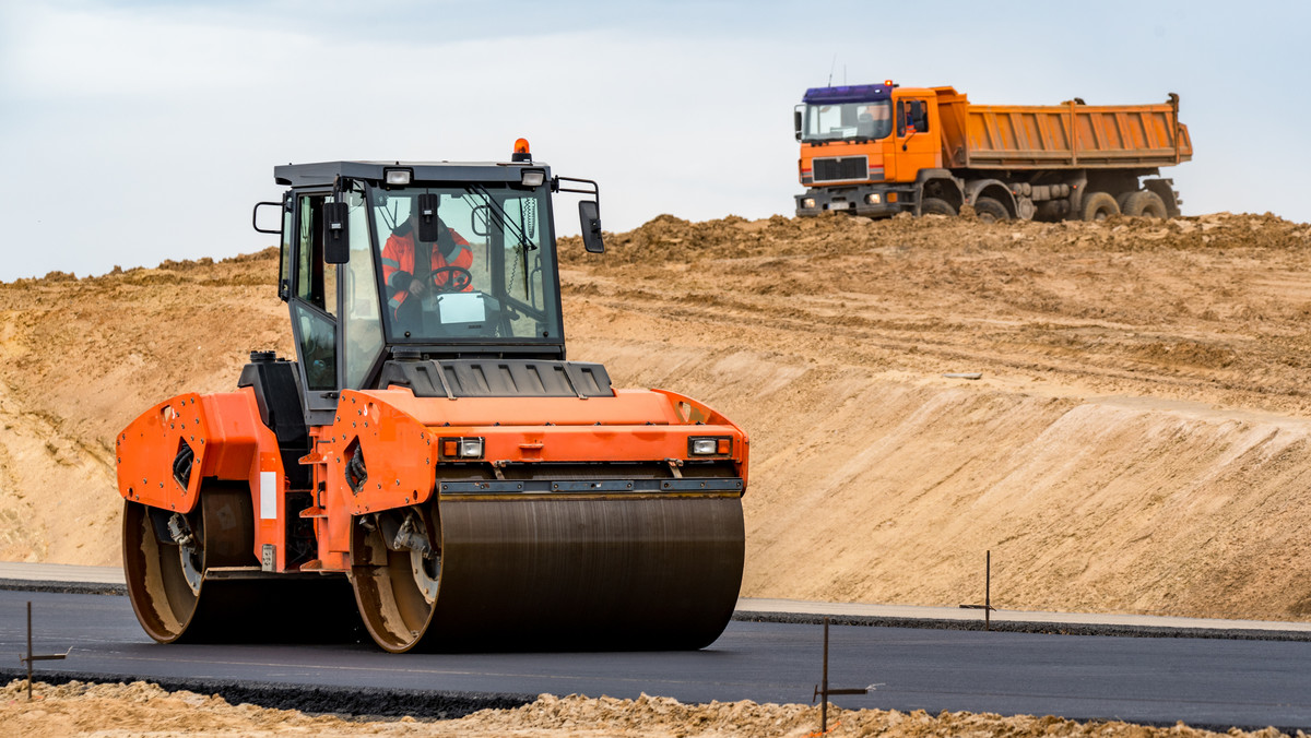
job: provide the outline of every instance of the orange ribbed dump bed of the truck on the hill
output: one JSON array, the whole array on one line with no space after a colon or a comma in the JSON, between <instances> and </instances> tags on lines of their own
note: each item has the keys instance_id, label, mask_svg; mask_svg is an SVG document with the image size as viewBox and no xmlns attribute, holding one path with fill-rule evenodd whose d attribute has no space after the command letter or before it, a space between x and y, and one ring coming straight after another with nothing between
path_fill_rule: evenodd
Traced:
<instances>
[{"instance_id":1,"label":"orange ribbed dump bed of the truck on the hill","mask_svg":"<svg viewBox=\"0 0 1311 738\"><path fill-rule=\"evenodd\" d=\"M952 169L1151 169L1188 161L1179 97L1159 105L973 105L935 88Z\"/></svg>"}]
</instances>

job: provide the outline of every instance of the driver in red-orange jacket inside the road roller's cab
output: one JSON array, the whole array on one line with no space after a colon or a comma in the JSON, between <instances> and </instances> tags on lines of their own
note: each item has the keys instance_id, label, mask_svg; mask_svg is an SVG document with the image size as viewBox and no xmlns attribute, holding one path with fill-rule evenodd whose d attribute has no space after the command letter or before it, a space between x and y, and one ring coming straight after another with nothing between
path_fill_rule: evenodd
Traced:
<instances>
[{"instance_id":1,"label":"driver in red-orange jacket inside the road roller's cab","mask_svg":"<svg viewBox=\"0 0 1311 738\"><path fill-rule=\"evenodd\" d=\"M416 311L421 298L430 290L468 292L473 286L469 274L469 267L473 266L473 250L469 243L454 228L447 228L440 219L437 223L439 225L437 241L431 245L420 241L427 245L427 249L418 252L414 249L414 243L418 241L416 216L397 225L383 245L383 281L391 292L387 303L396 317ZM429 257L426 260L425 250ZM413 307L402 309L406 303Z\"/></svg>"}]
</instances>

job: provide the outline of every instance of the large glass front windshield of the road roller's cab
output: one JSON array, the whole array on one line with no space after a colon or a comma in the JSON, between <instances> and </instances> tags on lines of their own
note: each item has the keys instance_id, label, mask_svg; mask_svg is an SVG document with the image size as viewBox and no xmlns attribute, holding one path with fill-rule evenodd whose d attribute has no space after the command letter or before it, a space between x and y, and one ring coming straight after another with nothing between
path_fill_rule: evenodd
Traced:
<instances>
[{"instance_id":1,"label":"large glass front windshield of the road roller's cab","mask_svg":"<svg viewBox=\"0 0 1311 738\"><path fill-rule=\"evenodd\" d=\"M438 195L426 243L425 193ZM509 185L372 187L388 342L560 341L548 197Z\"/></svg>"}]
</instances>

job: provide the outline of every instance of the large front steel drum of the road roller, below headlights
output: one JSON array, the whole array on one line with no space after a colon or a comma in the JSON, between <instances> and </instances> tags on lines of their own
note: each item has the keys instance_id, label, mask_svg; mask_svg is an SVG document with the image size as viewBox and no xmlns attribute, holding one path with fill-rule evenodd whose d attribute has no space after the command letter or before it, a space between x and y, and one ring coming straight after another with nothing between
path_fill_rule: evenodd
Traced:
<instances>
[{"instance_id":1,"label":"large front steel drum of the road roller, below headlights","mask_svg":"<svg viewBox=\"0 0 1311 738\"><path fill-rule=\"evenodd\" d=\"M357 520L355 596L389 651L700 649L742 585L742 501L443 497L410 509L426 556Z\"/></svg>"}]
</instances>

